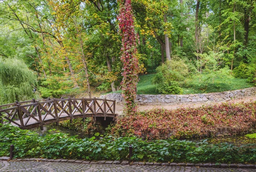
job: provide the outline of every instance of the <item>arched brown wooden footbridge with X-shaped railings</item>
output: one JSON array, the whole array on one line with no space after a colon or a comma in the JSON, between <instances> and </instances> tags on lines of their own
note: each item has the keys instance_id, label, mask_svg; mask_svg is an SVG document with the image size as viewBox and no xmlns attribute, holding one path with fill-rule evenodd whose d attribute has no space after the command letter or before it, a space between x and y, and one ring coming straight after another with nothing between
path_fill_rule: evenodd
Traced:
<instances>
[{"instance_id":1,"label":"arched brown wooden footbridge with X-shaped railings","mask_svg":"<svg viewBox=\"0 0 256 172\"><path fill-rule=\"evenodd\" d=\"M0 105L0 122L13 124L21 129L32 129L60 121L93 117L115 120L116 101L106 99L42 99Z\"/></svg>"}]
</instances>

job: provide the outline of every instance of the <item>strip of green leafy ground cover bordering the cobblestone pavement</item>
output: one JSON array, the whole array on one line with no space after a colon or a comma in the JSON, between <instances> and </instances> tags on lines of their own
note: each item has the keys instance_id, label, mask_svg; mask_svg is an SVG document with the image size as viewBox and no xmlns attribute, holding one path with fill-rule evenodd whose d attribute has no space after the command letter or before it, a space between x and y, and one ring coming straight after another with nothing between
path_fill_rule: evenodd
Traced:
<instances>
[{"instance_id":1,"label":"strip of green leafy ground cover bordering the cobblestone pavement","mask_svg":"<svg viewBox=\"0 0 256 172\"><path fill-rule=\"evenodd\" d=\"M38 136L29 130L0 125L0 156L9 156L15 145L15 158L72 158L85 160L127 160L133 147L133 161L255 163L256 144L208 144L179 140L147 141L137 137L79 139L63 133Z\"/></svg>"}]
</instances>

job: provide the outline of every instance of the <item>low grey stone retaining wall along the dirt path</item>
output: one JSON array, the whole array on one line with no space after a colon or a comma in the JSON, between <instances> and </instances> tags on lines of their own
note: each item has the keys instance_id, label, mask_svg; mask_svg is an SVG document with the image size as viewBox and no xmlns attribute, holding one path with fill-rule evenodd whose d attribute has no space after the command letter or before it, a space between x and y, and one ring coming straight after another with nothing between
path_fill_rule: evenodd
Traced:
<instances>
[{"instance_id":1,"label":"low grey stone retaining wall along the dirt path","mask_svg":"<svg viewBox=\"0 0 256 172\"><path fill-rule=\"evenodd\" d=\"M136 97L136 102L140 105L163 105L163 104L190 104L190 103L209 103L224 102L231 99L241 99L246 96L256 95L256 87L241 90L225 91L222 93L206 94L186 94L186 95L144 95ZM121 93L111 93L102 95L100 99L116 100L116 103L123 104L124 99Z\"/></svg>"}]
</instances>

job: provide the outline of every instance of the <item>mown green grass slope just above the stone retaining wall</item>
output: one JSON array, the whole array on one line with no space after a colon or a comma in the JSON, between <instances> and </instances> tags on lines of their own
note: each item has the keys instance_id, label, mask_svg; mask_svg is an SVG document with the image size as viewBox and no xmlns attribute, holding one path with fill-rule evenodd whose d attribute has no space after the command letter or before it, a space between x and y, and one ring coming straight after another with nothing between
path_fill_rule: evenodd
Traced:
<instances>
[{"instance_id":1,"label":"mown green grass slope just above the stone retaining wall","mask_svg":"<svg viewBox=\"0 0 256 172\"><path fill-rule=\"evenodd\" d=\"M157 92L156 85L152 84L152 79L155 74L147 74L139 76L140 81L137 85L137 94L161 94ZM193 81L193 83L186 83L183 88L183 94L196 94L196 93L214 93L223 92L228 90L238 90L248 87L253 87L253 84L247 83L246 79L232 78L221 82L221 79L215 79L217 83L209 83L207 87L203 87L198 84L199 81ZM121 93L122 91L116 91L115 93ZM111 92L113 93L113 92Z\"/></svg>"}]
</instances>

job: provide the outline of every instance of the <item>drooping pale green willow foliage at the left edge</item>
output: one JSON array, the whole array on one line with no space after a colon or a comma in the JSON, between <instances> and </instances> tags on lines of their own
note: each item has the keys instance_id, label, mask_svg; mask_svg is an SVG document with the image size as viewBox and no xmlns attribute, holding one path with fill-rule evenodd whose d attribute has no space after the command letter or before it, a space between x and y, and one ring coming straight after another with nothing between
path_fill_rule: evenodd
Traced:
<instances>
[{"instance_id":1,"label":"drooping pale green willow foliage at the left edge","mask_svg":"<svg viewBox=\"0 0 256 172\"><path fill-rule=\"evenodd\" d=\"M0 104L37 98L33 93L36 81L24 62L0 58Z\"/></svg>"}]
</instances>

